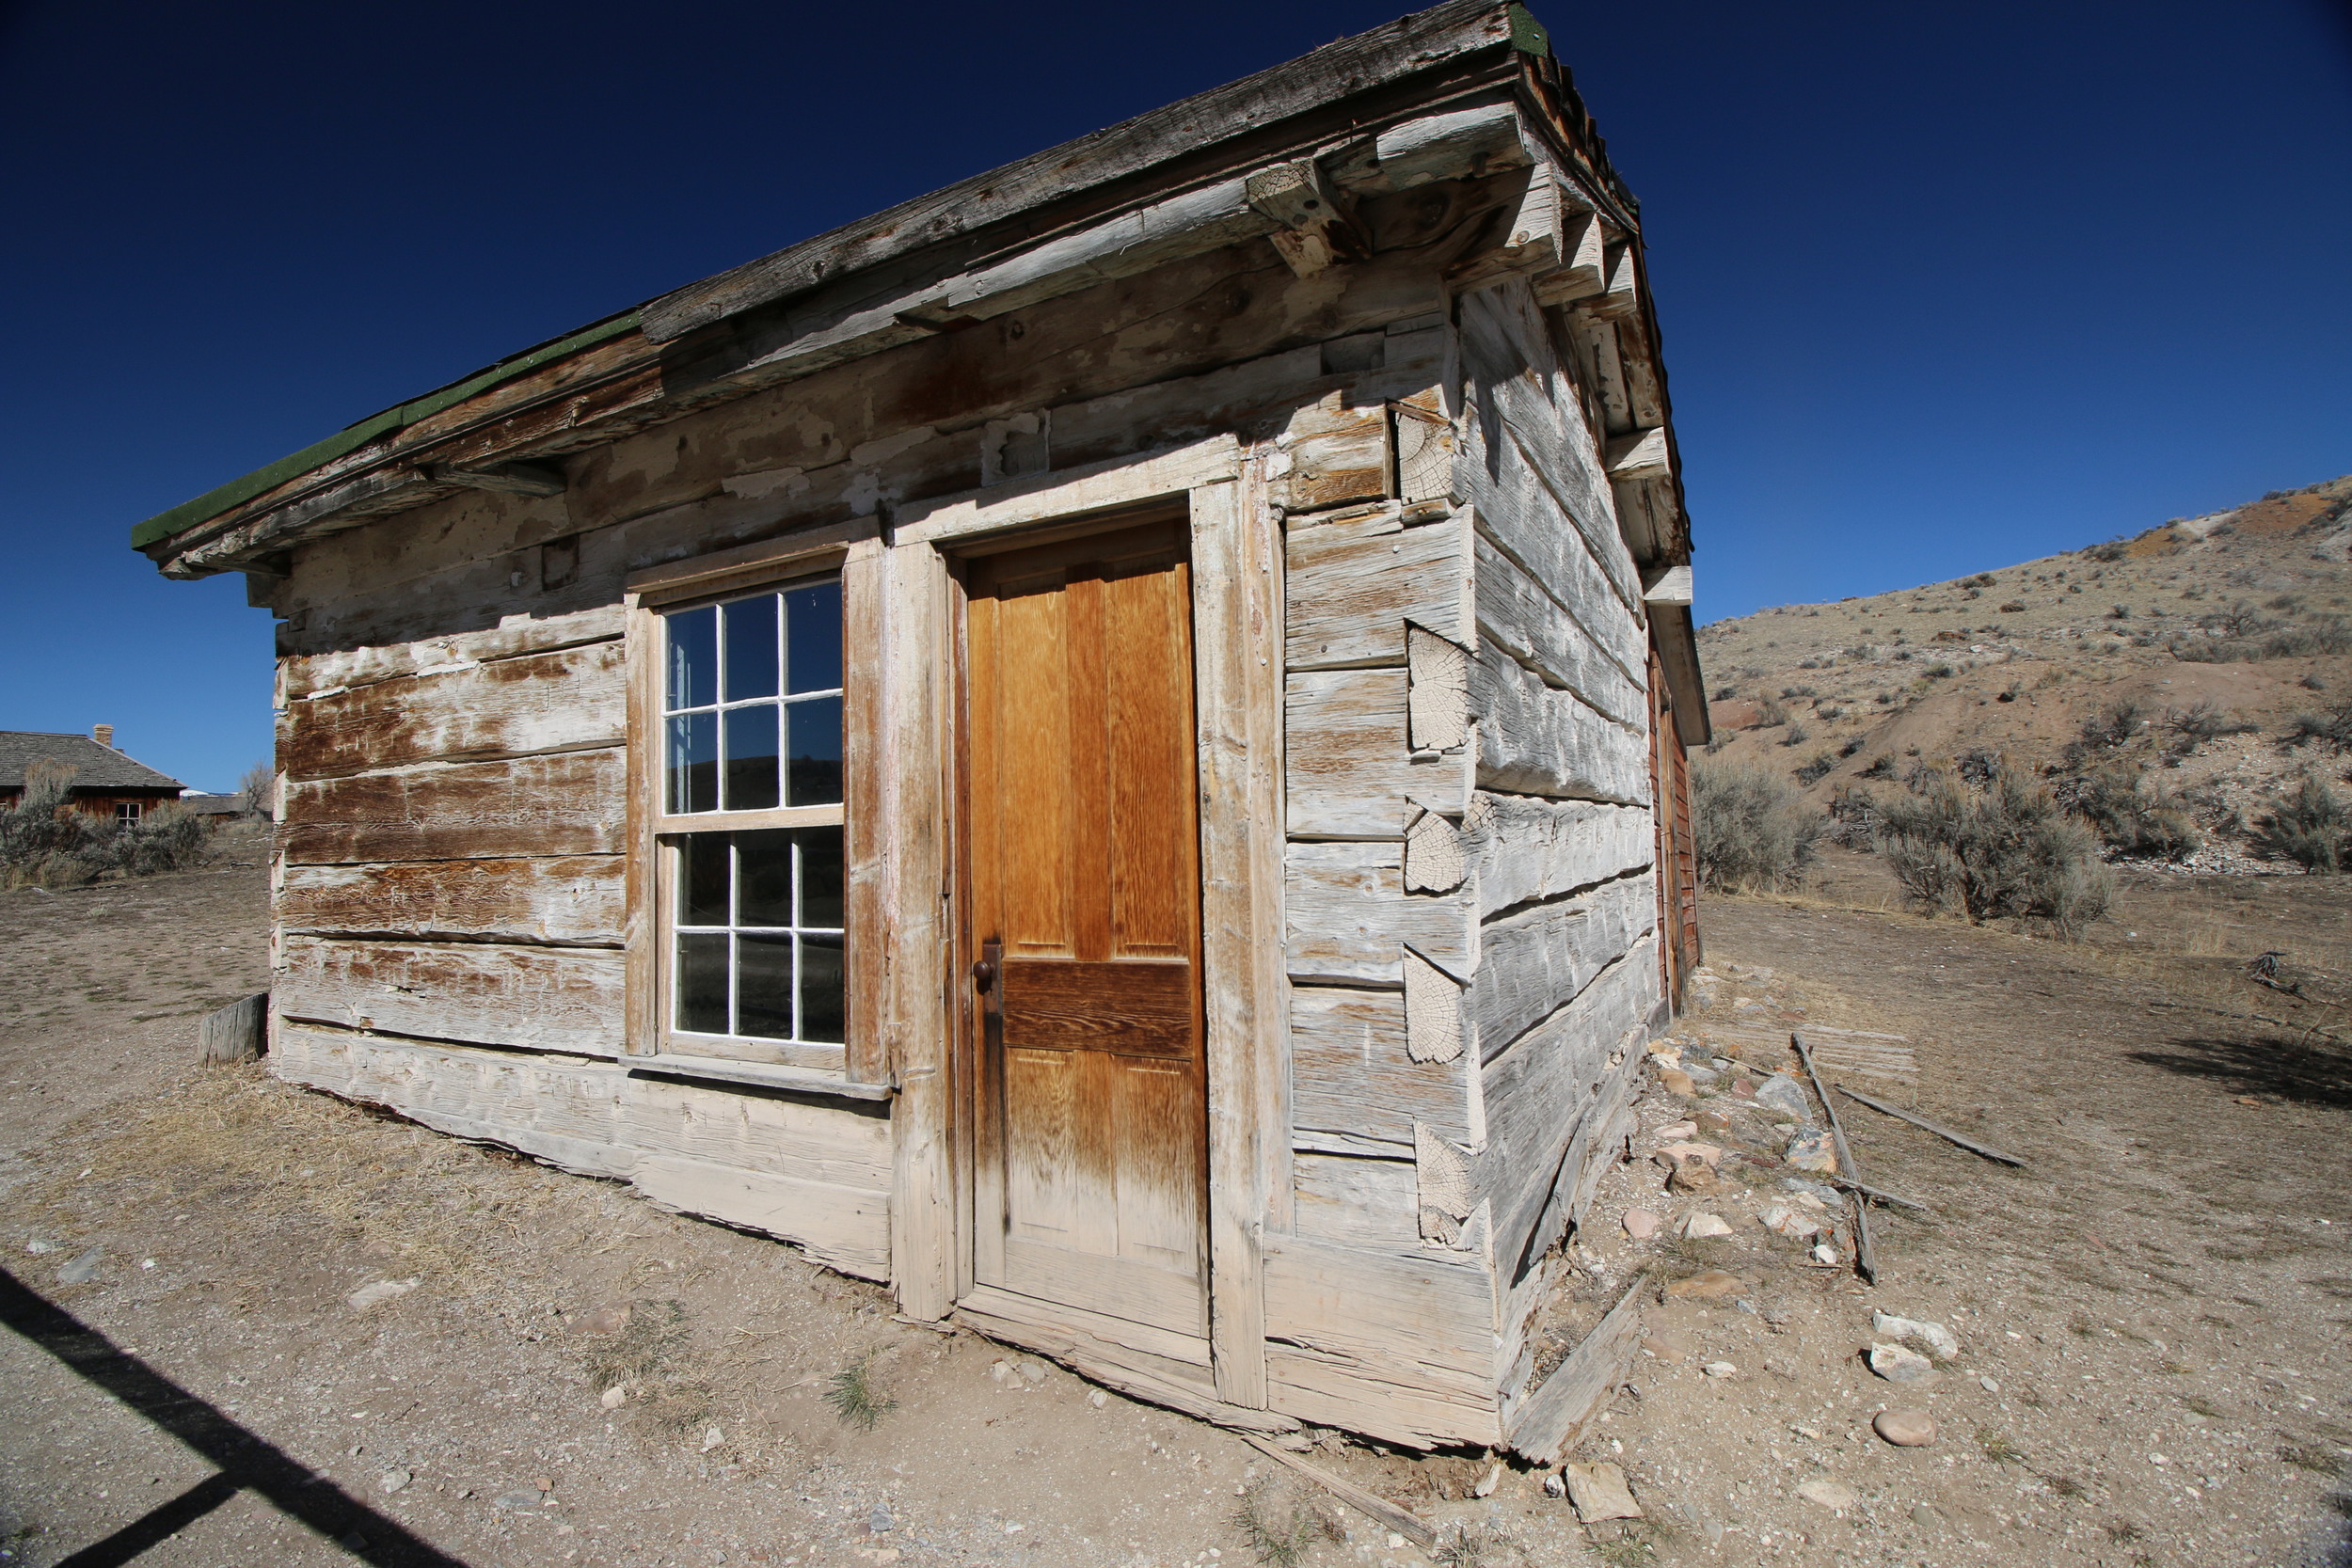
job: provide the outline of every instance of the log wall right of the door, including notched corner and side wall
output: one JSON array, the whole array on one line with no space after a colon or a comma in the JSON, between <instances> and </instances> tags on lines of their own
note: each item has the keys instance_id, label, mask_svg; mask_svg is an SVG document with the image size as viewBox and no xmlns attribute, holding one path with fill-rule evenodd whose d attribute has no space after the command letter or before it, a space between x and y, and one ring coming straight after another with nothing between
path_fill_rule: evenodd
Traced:
<instances>
[{"instance_id":1,"label":"log wall right of the door, including notched corner and side wall","mask_svg":"<svg viewBox=\"0 0 2352 1568\"><path fill-rule=\"evenodd\" d=\"M1649 635L1566 339L1524 280L1454 301L1451 374L1388 421L1425 444L1442 418L1437 482L1336 484L1329 421L1291 444L1272 1378L1308 1420L1421 1441L1501 1441L1536 1265L1661 994Z\"/></svg>"}]
</instances>

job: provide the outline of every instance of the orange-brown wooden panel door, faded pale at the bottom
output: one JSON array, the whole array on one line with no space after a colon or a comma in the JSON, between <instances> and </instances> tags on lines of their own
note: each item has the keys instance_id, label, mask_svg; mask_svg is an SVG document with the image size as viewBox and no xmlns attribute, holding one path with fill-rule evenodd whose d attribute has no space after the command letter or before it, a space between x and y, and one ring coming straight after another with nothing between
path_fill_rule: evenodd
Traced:
<instances>
[{"instance_id":1,"label":"orange-brown wooden panel door, faded pale at the bottom","mask_svg":"<svg viewBox=\"0 0 2352 1568\"><path fill-rule=\"evenodd\" d=\"M974 1281L1207 1335L1183 522L971 562Z\"/></svg>"}]
</instances>

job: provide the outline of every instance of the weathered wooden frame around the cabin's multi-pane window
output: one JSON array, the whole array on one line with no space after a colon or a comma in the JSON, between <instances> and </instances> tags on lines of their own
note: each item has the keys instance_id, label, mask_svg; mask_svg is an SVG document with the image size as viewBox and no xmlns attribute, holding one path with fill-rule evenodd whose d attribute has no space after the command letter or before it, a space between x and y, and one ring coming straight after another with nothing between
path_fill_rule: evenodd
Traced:
<instances>
[{"instance_id":1,"label":"weathered wooden frame around the cabin's multi-pane window","mask_svg":"<svg viewBox=\"0 0 2352 1568\"><path fill-rule=\"evenodd\" d=\"M858 863L875 823L861 820L861 788L873 776L858 745L858 726L870 705L870 649L877 628L861 609L870 595L858 576L870 574L880 541L870 520L858 529L826 529L797 541L771 541L743 550L677 562L628 581L626 614L630 642L628 741L630 741L630 858L628 858L628 1030L623 1060L680 1077L710 1077L783 1088L821 1088L849 1098L882 1098L889 1074L880 1063L880 1020L873 1016L868 976L882 964L880 910L870 875ZM842 595L842 799L816 806L760 806L748 811L670 811L668 795L668 616L764 592L790 592L816 583L840 583ZM863 649L863 654L854 654ZM779 766L788 708L779 691ZM706 703L703 708L715 708ZM788 785L786 785L788 792ZM870 790L868 790L870 792ZM750 1034L701 1034L677 1027L677 886L687 835L757 832L797 827L842 830L842 992L847 1041L779 1041ZM795 919L797 919L795 910ZM729 922L734 912L729 912Z\"/></svg>"}]
</instances>

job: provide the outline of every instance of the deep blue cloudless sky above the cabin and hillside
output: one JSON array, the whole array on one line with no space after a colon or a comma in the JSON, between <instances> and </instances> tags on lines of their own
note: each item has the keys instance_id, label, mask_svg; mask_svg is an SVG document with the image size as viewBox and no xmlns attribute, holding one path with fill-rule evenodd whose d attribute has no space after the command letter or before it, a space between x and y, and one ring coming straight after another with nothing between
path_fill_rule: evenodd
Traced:
<instances>
[{"instance_id":1,"label":"deep blue cloudless sky above the cabin and hillside","mask_svg":"<svg viewBox=\"0 0 2352 1568\"><path fill-rule=\"evenodd\" d=\"M226 790L266 611L141 517L1395 0L0 0L0 729ZM2352 21L1541 2L1644 202L1703 618L2352 470Z\"/></svg>"}]
</instances>

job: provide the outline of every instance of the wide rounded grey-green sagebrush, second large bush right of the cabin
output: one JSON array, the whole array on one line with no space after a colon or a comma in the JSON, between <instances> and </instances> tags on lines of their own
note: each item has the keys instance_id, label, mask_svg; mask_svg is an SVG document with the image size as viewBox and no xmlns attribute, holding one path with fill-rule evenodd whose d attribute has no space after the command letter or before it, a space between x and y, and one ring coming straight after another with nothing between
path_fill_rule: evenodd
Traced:
<instances>
[{"instance_id":1,"label":"wide rounded grey-green sagebrush, second large bush right of the cabin","mask_svg":"<svg viewBox=\"0 0 2352 1568\"><path fill-rule=\"evenodd\" d=\"M2046 919L2077 936L2114 896L2093 832L2013 769L1980 788L1922 771L1907 795L1877 802L1877 823L1896 882L1929 910Z\"/></svg>"}]
</instances>

